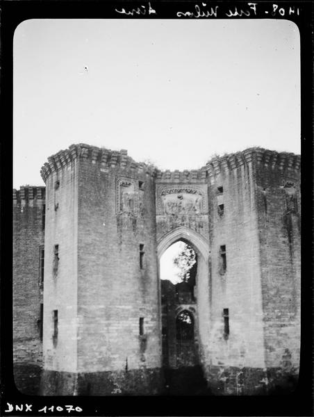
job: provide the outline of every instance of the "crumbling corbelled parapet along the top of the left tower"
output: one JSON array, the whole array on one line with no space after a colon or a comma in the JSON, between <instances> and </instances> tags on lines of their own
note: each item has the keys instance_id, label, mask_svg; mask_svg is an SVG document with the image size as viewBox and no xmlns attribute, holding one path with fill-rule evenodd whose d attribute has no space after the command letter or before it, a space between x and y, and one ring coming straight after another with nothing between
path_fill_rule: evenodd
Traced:
<instances>
[{"instance_id":1,"label":"crumbling corbelled parapet along the top of the left tower","mask_svg":"<svg viewBox=\"0 0 314 417\"><path fill-rule=\"evenodd\" d=\"M151 177L156 175L155 167L146 163L136 163L128 156L126 149L112 151L111 149L79 143L78 145L71 145L69 149L61 150L57 154L49 156L48 162L44 163L40 170L42 179L46 183L51 173L57 172L79 158L90 161L92 164L97 164L103 172L108 172L110 168L119 167L121 169L134 170L140 174L144 173Z\"/></svg>"}]
</instances>

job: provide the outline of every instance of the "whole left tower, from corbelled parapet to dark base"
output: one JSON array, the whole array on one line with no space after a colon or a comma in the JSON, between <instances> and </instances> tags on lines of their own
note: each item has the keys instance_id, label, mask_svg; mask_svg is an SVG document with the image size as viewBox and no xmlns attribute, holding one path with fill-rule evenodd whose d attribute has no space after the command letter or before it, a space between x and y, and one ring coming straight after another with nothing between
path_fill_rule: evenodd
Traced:
<instances>
[{"instance_id":1,"label":"whole left tower, from corbelled parapet to dark base","mask_svg":"<svg viewBox=\"0 0 314 417\"><path fill-rule=\"evenodd\" d=\"M156 394L154 168L84 144L48 161L42 391Z\"/></svg>"}]
</instances>

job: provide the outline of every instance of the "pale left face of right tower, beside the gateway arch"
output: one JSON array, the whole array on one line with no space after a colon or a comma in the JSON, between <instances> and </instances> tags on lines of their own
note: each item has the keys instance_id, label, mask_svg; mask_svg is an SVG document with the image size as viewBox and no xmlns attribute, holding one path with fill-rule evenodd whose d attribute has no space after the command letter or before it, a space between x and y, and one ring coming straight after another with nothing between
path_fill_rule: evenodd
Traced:
<instances>
[{"instance_id":1,"label":"pale left face of right tower, beside the gateway arch","mask_svg":"<svg viewBox=\"0 0 314 417\"><path fill-rule=\"evenodd\" d=\"M208 379L215 384L220 380L225 394L234 393L235 387L243 391L241 370L255 373L265 366L253 158L254 149L247 149L206 165L211 249ZM258 385L258 380L246 383Z\"/></svg>"}]
</instances>

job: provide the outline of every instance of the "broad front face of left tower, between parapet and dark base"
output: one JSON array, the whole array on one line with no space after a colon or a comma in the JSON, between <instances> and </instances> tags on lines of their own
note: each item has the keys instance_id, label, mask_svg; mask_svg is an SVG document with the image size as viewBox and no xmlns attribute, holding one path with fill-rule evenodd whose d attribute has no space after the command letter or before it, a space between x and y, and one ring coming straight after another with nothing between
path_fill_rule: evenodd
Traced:
<instances>
[{"instance_id":1,"label":"broad front face of left tower, between parapet and dark base","mask_svg":"<svg viewBox=\"0 0 314 417\"><path fill-rule=\"evenodd\" d=\"M131 179L133 211L121 212L119 179ZM138 181L142 189L138 189ZM159 304L150 174L81 161L78 201L79 369L160 367ZM144 245L140 269L140 245ZM144 335L139 320L144 318ZM100 332L99 332L100 329Z\"/></svg>"}]
</instances>

